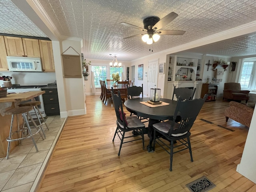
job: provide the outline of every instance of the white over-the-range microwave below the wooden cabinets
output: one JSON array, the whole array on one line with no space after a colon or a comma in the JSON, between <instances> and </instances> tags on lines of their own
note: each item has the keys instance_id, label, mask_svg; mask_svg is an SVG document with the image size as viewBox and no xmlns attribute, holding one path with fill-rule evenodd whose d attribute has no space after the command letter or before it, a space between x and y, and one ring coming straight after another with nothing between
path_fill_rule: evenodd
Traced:
<instances>
[{"instance_id":1,"label":"white over-the-range microwave below the wooden cabinets","mask_svg":"<svg viewBox=\"0 0 256 192\"><path fill-rule=\"evenodd\" d=\"M42 72L41 58L7 56L9 71Z\"/></svg>"}]
</instances>

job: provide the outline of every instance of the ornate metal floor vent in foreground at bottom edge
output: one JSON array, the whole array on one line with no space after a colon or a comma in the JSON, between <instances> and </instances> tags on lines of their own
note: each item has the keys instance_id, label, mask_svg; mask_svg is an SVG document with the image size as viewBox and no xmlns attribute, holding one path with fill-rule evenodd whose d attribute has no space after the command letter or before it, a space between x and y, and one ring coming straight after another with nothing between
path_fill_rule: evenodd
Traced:
<instances>
[{"instance_id":1,"label":"ornate metal floor vent in foreground at bottom edge","mask_svg":"<svg viewBox=\"0 0 256 192\"><path fill-rule=\"evenodd\" d=\"M203 176L189 184L186 184L186 187L191 192L206 192L216 187L216 185L212 183L208 178Z\"/></svg>"}]
</instances>

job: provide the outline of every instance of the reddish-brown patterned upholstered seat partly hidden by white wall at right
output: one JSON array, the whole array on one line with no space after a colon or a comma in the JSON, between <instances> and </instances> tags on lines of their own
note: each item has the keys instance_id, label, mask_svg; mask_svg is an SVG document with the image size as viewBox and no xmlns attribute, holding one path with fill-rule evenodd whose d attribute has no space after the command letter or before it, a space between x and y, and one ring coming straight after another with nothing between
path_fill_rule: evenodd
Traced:
<instances>
[{"instance_id":1,"label":"reddish-brown patterned upholstered seat partly hidden by white wall at right","mask_svg":"<svg viewBox=\"0 0 256 192\"><path fill-rule=\"evenodd\" d=\"M232 120L235 120L236 122L250 127L253 111L254 108L251 105L246 106L242 103L230 101L229 108L225 109L224 114L226 116L226 122L228 122L228 118L230 118Z\"/></svg>"}]
</instances>

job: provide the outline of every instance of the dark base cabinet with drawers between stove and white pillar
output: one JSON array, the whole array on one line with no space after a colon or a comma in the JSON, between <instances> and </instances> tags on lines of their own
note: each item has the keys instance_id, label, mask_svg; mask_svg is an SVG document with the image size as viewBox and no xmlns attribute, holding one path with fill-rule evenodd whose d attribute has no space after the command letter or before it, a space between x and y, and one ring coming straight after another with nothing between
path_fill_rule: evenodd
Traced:
<instances>
[{"instance_id":1,"label":"dark base cabinet with drawers between stove and white pillar","mask_svg":"<svg viewBox=\"0 0 256 192\"><path fill-rule=\"evenodd\" d=\"M41 88L45 91L43 94L44 112L46 116L59 115L60 107L58 100L57 86L46 86Z\"/></svg>"}]
</instances>

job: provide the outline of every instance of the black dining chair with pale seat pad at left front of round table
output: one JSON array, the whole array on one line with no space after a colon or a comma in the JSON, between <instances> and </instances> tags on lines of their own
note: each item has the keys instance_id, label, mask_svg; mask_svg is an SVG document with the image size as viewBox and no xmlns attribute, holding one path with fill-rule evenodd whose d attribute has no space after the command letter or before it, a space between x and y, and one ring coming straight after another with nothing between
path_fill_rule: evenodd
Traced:
<instances>
[{"instance_id":1,"label":"black dining chair with pale seat pad at left front of round table","mask_svg":"<svg viewBox=\"0 0 256 192\"><path fill-rule=\"evenodd\" d=\"M134 116L128 116L128 117L125 116L126 114L124 113L124 110L123 110L120 91L118 91L117 94L114 94L114 90L112 88L111 96L112 96L112 100L113 100L113 103L114 103L114 108L115 108L115 112L116 112L116 119L117 119L116 120L116 125L117 125L116 126L116 132L114 134L114 138L113 138L112 141L114 142L116 134L118 135L118 137L121 140L118 156L120 156L120 151L121 151L121 148L122 148L122 144L124 144L124 143L128 143L128 142L132 142L132 141L142 139L142 146L143 146L143 149L145 149L145 147L144 147L144 132L143 132L143 130L145 128L145 125L138 118L136 118ZM125 136L125 133L130 132L130 131L136 131L138 133L138 135L136 135L136 136L134 136L134 135ZM138 136L139 137L141 136L141 138L135 139ZM134 138L134 139L131 140L131 139L127 139L127 138Z\"/></svg>"}]
</instances>

